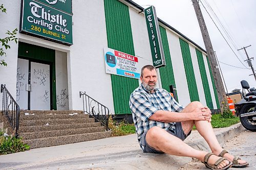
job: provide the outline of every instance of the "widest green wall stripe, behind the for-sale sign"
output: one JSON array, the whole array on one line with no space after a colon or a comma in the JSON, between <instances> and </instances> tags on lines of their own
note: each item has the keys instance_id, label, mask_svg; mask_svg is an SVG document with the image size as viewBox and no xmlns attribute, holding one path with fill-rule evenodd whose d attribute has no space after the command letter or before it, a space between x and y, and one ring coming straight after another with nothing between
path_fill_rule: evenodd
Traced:
<instances>
[{"instance_id":1,"label":"widest green wall stripe, behind the for-sale sign","mask_svg":"<svg viewBox=\"0 0 256 170\"><path fill-rule=\"evenodd\" d=\"M108 47L135 55L129 7L118 0L104 0ZM131 113L130 94L138 79L111 75L115 114Z\"/></svg>"}]
</instances>

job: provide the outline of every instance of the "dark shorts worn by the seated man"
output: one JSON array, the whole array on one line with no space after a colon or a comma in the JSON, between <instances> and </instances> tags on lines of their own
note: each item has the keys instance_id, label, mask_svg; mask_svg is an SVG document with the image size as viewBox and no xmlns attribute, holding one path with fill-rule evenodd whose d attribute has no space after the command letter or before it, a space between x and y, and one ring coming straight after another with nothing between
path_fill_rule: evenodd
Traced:
<instances>
[{"instance_id":1,"label":"dark shorts worn by the seated man","mask_svg":"<svg viewBox=\"0 0 256 170\"><path fill-rule=\"evenodd\" d=\"M172 131L170 129L166 130L169 134L174 135L178 138L180 138L182 141L186 139L186 137L188 135L190 135L191 131L188 133L188 135L186 135L182 129L181 123L180 122L176 122L175 125L175 131ZM146 133L144 132L142 134L142 137L140 139L140 147L142 148L143 152L149 152L149 153L155 153L155 154L163 154L164 152L162 151L158 151L155 148L152 148L150 145L147 144L146 142Z\"/></svg>"}]
</instances>

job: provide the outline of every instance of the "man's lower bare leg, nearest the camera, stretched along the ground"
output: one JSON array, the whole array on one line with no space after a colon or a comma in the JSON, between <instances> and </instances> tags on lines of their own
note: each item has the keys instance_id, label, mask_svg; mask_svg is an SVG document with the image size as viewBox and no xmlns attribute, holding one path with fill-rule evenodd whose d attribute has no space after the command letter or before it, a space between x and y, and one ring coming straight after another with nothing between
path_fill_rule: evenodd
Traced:
<instances>
[{"instance_id":1,"label":"man's lower bare leg, nearest the camera, stretched along the ground","mask_svg":"<svg viewBox=\"0 0 256 170\"><path fill-rule=\"evenodd\" d=\"M147 144L156 150L163 151L170 155L193 157L199 159L200 161L204 161L204 156L207 154L205 151L198 151L191 148L181 139L169 134L164 129L159 127L153 127L147 131L146 141ZM219 158L220 157L216 155L212 155L209 157L208 162L210 164L214 164ZM229 162L224 160L218 167L223 168L228 164Z\"/></svg>"}]
</instances>

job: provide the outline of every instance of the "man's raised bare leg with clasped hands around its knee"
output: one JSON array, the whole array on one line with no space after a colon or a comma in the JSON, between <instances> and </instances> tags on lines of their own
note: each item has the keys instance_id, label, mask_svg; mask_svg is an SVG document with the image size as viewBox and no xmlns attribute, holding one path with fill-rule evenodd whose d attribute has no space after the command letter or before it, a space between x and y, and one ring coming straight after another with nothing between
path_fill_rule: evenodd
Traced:
<instances>
[{"instance_id":1,"label":"man's raised bare leg with clasped hands around its knee","mask_svg":"<svg viewBox=\"0 0 256 170\"><path fill-rule=\"evenodd\" d=\"M192 112L196 107L202 108L204 106L200 102L192 102L189 105L187 105L182 110L182 112ZM221 148L221 145L218 142L216 135L214 133L214 130L212 129L211 124L209 122L207 122L205 120L181 122L181 125L182 125L182 128L183 128L185 134L188 134L190 132L190 130L191 130L191 128L193 128L194 124L195 124L198 132L200 133L200 135L203 136L203 138L208 143L208 145L211 149L211 152L214 153L215 155L219 155L223 149ZM232 156L228 153L225 154L224 157L231 162L234 158L234 156ZM238 162L239 162L239 164L246 163L246 161L241 160L241 159L238 160Z\"/></svg>"}]
</instances>

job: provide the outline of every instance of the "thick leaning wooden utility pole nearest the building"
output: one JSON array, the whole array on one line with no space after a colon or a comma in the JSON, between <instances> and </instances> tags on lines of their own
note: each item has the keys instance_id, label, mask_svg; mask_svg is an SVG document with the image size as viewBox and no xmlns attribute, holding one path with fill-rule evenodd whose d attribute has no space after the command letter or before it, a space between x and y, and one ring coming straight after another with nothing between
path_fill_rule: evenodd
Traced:
<instances>
[{"instance_id":1,"label":"thick leaning wooden utility pole nearest the building","mask_svg":"<svg viewBox=\"0 0 256 170\"><path fill-rule=\"evenodd\" d=\"M228 105L227 105L226 93L225 93L224 86L223 86L223 83L221 80L219 67L218 67L217 60L214 55L214 50L212 48L210 37L209 37L208 31L207 31L207 28L206 28L206 25L204 22L203 14L201 12L198 0L192 0L192 2L193 2L193 6L195 9L196 15L197 15L201 33L203 36L204 45L206 48L207 56L209 59L211 70L212 70L212 75L214 76L214 83L216 86L216 90L218 92L218 99L220 102L221 111L223 111L224 107L228 107Z\"/></svg>"}]
</instances>

